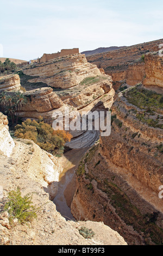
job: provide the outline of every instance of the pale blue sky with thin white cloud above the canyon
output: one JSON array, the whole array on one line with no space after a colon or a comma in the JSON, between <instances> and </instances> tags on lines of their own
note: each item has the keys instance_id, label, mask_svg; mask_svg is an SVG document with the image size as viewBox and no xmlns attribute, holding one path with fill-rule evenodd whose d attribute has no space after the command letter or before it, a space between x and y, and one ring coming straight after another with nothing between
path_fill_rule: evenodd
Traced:
<instances>
[{"instance_id":1,"label":"pale blue sky with thin white cloud above the canyon","mask_svg":"<svg viewBox=\"0 0 163 256\"><path fill-rule=\"evenodd\" d=\"M34 59L79 47L129 46L163 38L162 0L0 0L3 56Z\"/></svg>"}]
</instances>

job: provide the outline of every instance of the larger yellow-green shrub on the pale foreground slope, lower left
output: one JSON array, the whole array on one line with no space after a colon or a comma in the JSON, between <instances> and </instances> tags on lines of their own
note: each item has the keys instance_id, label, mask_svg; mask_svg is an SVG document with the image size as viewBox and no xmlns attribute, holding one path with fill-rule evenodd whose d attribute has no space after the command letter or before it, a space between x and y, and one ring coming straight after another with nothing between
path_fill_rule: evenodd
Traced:
<instances>
[{"instance_id":1,"label":"larger yellow-green shrub on the pale foreground slope, lower left","mask_svg":"<svg viewBox=\"0 0 163 256\"><path fill-rule=\"evenodd\" d=\"M31 222L37 218L37 212L40 208L36 208L32 202L32 196L27 194L22 197L20 188L16 191L10 191L8 195L8 202L4 205L4 210L9 213L9 221L12 224L14 218L17 218L21 224Z\"/></svg>"}]
</instances>

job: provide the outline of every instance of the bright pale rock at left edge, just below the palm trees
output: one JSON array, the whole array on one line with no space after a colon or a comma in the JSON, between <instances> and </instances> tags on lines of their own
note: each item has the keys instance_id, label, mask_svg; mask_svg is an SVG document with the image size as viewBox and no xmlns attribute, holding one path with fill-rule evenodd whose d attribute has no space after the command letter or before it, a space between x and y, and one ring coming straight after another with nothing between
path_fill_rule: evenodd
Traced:
<instances>
[{"instance_id":1,"label":"bright pale rock at left edge, just below the palm trees","mask_svg":"<svg viewBox=\"0 0 163 256\"><path fill-rule=\"evenodd\" d=\"M10 156L15 143L10 136L7 116L0 112L0 155Z\"/></svg>"}]
</instances>

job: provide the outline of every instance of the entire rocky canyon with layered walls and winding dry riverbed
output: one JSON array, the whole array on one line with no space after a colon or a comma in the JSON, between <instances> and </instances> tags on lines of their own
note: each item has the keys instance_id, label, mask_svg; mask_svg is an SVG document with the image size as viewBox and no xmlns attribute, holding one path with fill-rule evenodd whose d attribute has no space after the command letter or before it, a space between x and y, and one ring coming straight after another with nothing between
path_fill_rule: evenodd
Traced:
<instances>
[{"instance_id":1,"label":"entire rocky canyon with layered walls and winding dry riverbed","mask_svg":"<svg viewBox=\"0 0 163 256\"><path fill-rule=\"evenodd\" d=\"M12 75L27 97L22 120L41 115L52 125L58 112L65 118L66 107L74 113L71 120L110 110L111 134L70 130L67 151L57 157L33 141L12 139L7 117L0 115L4 202L20 186L23 194L35 192L34 203L45 203L29 229L17 224L12 230L7 212L0 212L2 244L163 244L162 42L86 57L68 54L24 65ZM1 88L11 95L17 91L7 77ZM85 240L79 227L92 228L95 237Z\"/></svg>"}]
</instances>

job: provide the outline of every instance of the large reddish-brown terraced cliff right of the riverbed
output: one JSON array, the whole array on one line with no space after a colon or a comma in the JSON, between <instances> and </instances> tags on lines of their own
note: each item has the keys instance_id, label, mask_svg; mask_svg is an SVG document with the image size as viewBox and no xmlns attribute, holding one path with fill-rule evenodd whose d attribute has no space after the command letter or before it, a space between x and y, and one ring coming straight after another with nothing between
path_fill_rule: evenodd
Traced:
<instances>
[{"instance_id":1,"label":"large reddish-brown terraced cliff right of the riverbed","mask_svg":"<svg viewBox=\"0 0 163 256\"><path fill-rule=\"evenodd\" d=\"M73 216L103 221L130 245L163 243L161 99L141 86L120 94L111 108L111 135L101 137L77 170Z\"/></svg>"}]
</instances>

